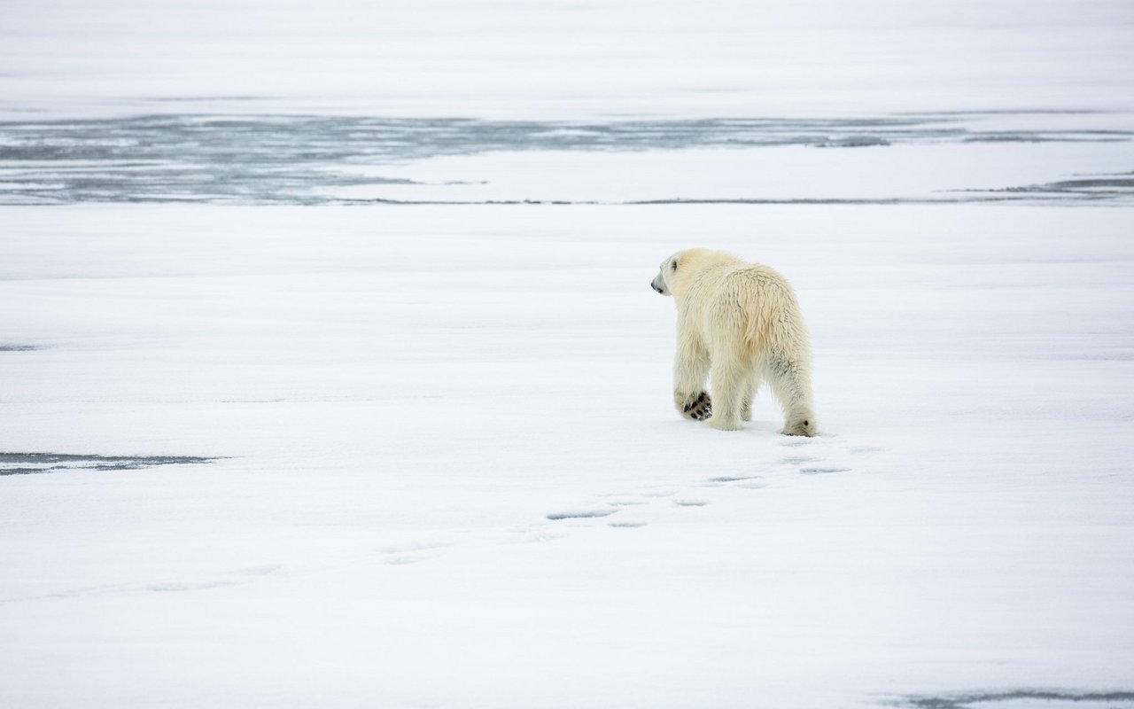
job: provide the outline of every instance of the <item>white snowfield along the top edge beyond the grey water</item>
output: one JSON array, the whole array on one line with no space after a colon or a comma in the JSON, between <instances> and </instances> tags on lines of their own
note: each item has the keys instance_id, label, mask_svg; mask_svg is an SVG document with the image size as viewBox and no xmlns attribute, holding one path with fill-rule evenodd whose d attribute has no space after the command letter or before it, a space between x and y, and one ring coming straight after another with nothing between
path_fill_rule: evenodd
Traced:
<instances>
[{"instance_id":1,"label":"white snowfield along the top edge beyond the grey water","mask_svg":"<svg viewBox=\"0 0 1134 709\"><path fill-rule=\"evenodd\" d=\"M1124 0L8 0L0 111L1125 110Z\"/></svg>"}]
</instances>

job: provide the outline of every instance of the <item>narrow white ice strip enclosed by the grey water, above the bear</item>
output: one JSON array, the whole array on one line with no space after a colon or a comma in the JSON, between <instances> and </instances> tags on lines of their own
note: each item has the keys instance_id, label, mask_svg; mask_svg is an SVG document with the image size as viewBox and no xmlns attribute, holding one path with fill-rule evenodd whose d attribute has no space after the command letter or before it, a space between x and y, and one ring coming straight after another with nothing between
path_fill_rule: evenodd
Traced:
<instances>
[{"instance_id":1,"label":"narrow white ice strip enclosed by the grey water, above the bear","mask_svg":"<svg viewBox=\"0 0 1134 709\"><path fill-rule=\"evenodd\" d=\"M323 194L457 202L934 201L997 195L995 191L1073 176L1115 175L1131 164L1134 142L493 152L383 166L383 178L411 182L330 187Z\"/></svg>"}]
</instances>

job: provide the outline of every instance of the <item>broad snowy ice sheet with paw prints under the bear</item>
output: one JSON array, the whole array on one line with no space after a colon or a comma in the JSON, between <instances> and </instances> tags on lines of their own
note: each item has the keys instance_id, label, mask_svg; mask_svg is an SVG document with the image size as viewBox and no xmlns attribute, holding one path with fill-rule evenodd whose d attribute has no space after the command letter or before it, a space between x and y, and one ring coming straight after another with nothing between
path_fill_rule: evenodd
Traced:
<instances>
[{"instance_id":1,"label":"broad snowy ice sheet with paw prints under the bear","mask_svg":"<svg viewBox=\"0 0 1134 709\"><path fill-rule=\"evenodd\" d=\"M1127 208L0 220L11 706L1129 692ZM672 411L696 243L794 281L824 436Z\"/></svg>"}]
</instances>

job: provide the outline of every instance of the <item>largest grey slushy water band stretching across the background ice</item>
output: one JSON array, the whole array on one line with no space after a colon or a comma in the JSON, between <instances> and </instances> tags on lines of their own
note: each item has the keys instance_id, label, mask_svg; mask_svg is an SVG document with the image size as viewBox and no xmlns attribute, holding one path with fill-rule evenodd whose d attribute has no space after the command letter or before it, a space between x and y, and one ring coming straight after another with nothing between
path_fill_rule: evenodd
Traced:
<instances>
[{"instance_id":1,"label":"largest grey slushy water band stretching across the background ice","mask_svg":"<svg viewBox=\"0 0 1134 709\"><path fill-rule=\"evenodd\" d=\"M501 151L636 152L785 145L849 149L973 141L1134 140L1134 132L1117 130L988 133L972 125L979 116L509 121L187 113L2 121L0 203L403 203L352 200L344 189L420 184L384 177L383 166Z\"/></svg>"}]
</instances>

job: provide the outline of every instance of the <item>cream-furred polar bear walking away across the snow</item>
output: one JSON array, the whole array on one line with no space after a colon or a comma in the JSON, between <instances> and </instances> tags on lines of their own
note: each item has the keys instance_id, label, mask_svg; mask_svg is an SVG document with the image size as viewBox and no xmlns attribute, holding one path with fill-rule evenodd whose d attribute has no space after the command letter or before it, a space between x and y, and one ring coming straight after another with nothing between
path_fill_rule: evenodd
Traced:
<instances>
[{"instance_id":1,"label":"cream-furred polar bear walking away across the snow","mask_svg":"<svg viewBox=\"0 0 1134 709\"><path fill-rule=\"evenodd\" d=\"M662 261L651 286L677 303L674 403L683 416L735 431L752 420L767 380L784 408L782 433L815 434L811 346L787 279L730 253L689 248Z\"/></svg>"}]
</instances>

